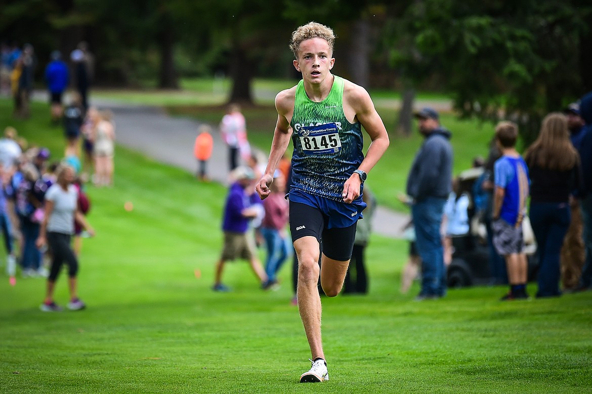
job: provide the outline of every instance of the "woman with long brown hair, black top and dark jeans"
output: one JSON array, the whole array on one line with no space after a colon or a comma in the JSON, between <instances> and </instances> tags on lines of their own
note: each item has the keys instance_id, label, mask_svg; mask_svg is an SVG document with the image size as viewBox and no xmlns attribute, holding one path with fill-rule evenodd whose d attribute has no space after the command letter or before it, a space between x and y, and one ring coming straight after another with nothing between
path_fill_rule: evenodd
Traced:
<instances>
[{"instance_id":1,"label":"woman with long brown hair, black top and dark jeans","mask_svg":"<svg viewBox=\"0 0 592 394\"><path fill-rule=\"evenodd\" d=\"M580 182L580 156L570 141L567 117L548 114L526 150L530 173L530 223L539 256L537 297L560 296L559 256L570 226L570 198Z\"/></svg>"}]
</instances>

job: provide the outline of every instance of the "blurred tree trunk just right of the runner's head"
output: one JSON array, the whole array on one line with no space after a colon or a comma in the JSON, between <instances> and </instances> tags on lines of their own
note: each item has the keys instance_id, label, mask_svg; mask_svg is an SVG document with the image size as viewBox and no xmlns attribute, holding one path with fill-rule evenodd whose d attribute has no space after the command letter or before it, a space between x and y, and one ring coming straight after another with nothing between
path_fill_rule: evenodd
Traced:
<instances>
[{"instance_id":1,"label":"blurred tree trunk just right of the runner's head","mask_svg":"<svg viewBox=\"0 0 592 394\"><path fill-rule=\"evenodd\" d=\"M352 82L368 89L370 70L370 24L367 20L355 21L352 26L348 68Z\"/></svg>"}]
</instances>

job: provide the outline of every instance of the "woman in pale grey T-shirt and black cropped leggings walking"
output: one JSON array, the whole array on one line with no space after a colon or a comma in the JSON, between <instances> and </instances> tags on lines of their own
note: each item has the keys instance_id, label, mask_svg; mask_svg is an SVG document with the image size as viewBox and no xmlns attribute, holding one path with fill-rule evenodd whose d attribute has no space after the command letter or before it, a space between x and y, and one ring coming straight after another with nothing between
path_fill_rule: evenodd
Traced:
<instances>
[{"instance_id":1,"label":"woman in pale grey T-shirt and black cropped leggings walking","mask_svg":"<svg viewBox=\"0 0 592 394\"><path fill-rule=\"evenodd\" d=\"M57 276L66 262L68 265L70 302L68 309L79 310L85 304L78 298L76 292L76 274L78 273L78 260L70 246L70 238L74 233L74 220L86 231L94 235L95 231L86 222L83 214L78 210L78 190L72 184L75 172L69 165L60 165L56 170L57 181L45 195L45 217L41 223L41 231L37 239L37 246L49 244L52 252L52 266L47 278L47 294L41 310L44 312L58 312L62 307L53 300L53 292L56 286Z\"/></svg>"}]
</instances>

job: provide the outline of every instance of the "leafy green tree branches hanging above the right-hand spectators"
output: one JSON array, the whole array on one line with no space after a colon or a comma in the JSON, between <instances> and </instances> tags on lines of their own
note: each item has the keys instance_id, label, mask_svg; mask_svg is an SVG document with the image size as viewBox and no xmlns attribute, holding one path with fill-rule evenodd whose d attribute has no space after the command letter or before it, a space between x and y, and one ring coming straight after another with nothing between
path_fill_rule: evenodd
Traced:
<instances>
[{"instance_id":1,"label":"leafy green tree branches hanging above the right-hand spectators","mask_svg":"<svg viewBox=\"0 0 592 394\"><path fill-rule=\"evenodd\" d=\"M415 81L439 74L463 116L513 118L529 141L545 114L584 91L591 15L577 0L416 1L403 17L411 45L394 62Z\"/></svg>"}]
</instances>

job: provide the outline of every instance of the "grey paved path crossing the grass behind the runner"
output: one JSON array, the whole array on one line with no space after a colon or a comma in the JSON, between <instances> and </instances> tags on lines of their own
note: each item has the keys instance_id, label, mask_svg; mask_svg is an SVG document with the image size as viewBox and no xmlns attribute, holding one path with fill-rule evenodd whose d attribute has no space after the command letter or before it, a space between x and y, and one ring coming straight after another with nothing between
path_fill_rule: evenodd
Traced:
<instances>
[{"instance_id":1,"label":"grey paved path crossing the grass behind the runner","mask_svg":"<svg viewBox=\"0 0 592 394\"><path fill-rule=\"evenodd\" d=\"M98 98L93 98L92 104L113 111L118 144L142 152L156 161L195 172L197 163L193 156L193 146L199 121L170 117L156 107L118 104ZM208 162L208 174L214 181L225 184L228 172L226 146L219 133L212 134L214 151ZM400 229L407 220L406 214L379 205L372 225L375 232L398 238L401 236Z\"/></svg>"}]
</instances>

